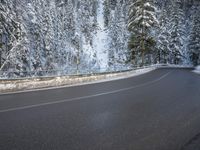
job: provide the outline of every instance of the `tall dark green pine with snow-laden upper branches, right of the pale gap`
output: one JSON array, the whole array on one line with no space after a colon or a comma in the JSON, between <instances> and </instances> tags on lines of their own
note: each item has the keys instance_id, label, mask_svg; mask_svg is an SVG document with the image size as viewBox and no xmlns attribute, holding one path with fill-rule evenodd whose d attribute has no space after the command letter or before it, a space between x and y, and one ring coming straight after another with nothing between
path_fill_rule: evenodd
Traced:
<instances>
[{"instance_id":1,"label":"tall dark green pine with snow-laden upper branches, right of the pale gap","mask_svg":"<svg viewBox=\"0 0 200 150\"><path fill-rule=\"evenodd\" d=\"M140 51L142 65L145 63L145 54L148 53L149 50L147 45L149 46L149 44L154 43L152 37L150 37L150 32L151 29L158 24L155 13L156 8L153 0L131 1L128 28L132 32L132 36L136 36L135 38L131 38L131 40L139 39L139 41L130 41L129 44L134 45L132 47L134 50L132 51ZM136 48L139 48L139 50Z\"/></svg>"}]
</instances>

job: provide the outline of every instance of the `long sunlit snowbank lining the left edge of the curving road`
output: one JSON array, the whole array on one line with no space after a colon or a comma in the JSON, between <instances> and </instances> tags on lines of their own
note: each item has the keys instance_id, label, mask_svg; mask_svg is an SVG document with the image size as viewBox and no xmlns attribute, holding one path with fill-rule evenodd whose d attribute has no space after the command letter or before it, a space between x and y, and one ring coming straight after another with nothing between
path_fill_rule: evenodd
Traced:
<instances>
[{"instance_id":1,"label":"long sunlit snowbank lining the left edge of the curving road","mask_svg":"<svg viewBox=\"0 0 200 150\"><path fill-rule=\"evenodd\" d=\"M45 88L67 87L83 84L92 84L98 82L106 82L129 78L144 73L148 73L157 68L157 65L140 68L136 70L129 70L118 73L93 74L84 76L63 76L63 77L47 77L47 78L33 78L20 80L0 80L0 93L29 91Z\"/></svg>"}]
</instances>

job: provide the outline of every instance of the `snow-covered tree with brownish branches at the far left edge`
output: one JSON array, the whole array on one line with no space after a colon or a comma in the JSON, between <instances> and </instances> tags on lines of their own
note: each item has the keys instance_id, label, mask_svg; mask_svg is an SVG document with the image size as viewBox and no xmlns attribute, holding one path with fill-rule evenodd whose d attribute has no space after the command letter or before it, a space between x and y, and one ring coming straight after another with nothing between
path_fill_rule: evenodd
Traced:
<instances>
[{"instance_id":1,"label":"snow-covered tree with brownish branches at the far left edge","mask_svg":"<svg viewBox=\"0 0 200 150\"><path fill-rule=\"evenodd\" d=\"M0 3L0 49L1 70L13 68L23 71L26 61L24 47L21 45L22 29L19 22L16 1L1 1ZM14 62L14 64L13 64Z\"/></svg>"}]
</instances>

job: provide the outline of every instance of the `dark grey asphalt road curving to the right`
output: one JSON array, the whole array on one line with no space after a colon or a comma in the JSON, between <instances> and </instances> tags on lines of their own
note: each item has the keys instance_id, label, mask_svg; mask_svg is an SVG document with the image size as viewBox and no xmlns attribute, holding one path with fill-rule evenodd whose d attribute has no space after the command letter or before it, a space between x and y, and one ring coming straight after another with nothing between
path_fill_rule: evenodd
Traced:
<instances>
[{"instance_id":1,"label":"dark grey asphalt road curving to the right","mask_svg":"<svg viewBox=\"0 0 200 150\"><path fill-rule=\"evenodd\" d=\"M0 96L0 150L186 150L198 135L189 69Z\"/></svg>"}]
</instances>

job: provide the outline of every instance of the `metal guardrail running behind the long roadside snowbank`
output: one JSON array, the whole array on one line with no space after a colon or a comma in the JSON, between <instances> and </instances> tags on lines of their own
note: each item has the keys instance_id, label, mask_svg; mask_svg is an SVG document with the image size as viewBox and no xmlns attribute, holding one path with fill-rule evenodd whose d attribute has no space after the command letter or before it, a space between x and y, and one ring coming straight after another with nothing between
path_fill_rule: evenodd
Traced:
<instances>
[{"instance_id":1,"label":"metal guardrail running behind the long roadside snowbank","mask_svg":"<svg viewBox=\"0 0 200 150\"><path fill-rule=\"evenodd\" d=\"M91 76L91 75L128 72L138 69L150 68L153 66L159 67L165 65L148 65L143 67L121 66L118 68L113 67L113 68L86 69L86 70L70 69L70 70L0 71L0 81L53 78L62 76Z\"/></svg>"}]
</instances>

